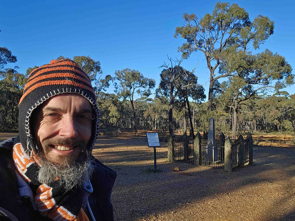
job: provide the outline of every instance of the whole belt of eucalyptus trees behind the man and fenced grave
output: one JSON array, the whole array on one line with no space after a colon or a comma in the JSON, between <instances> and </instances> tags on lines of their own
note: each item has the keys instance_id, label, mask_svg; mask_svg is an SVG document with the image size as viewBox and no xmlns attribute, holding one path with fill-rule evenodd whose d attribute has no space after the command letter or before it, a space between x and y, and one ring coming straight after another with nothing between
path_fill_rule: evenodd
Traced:
<instances>
[{"instance_id":1,"label":"whole belt of eucalyptus trees behind the man and fenced grave","mask_svg":"<svg viewBox=\"0 0 295 221\"><path fill-rule=\"evenodd\" d=\"M213 117L217 133L233 137L295 133L295 95L288 92L294 84L292 67L271 45L261 50L275 33L274 22L264 15L250 16L236 3L216 3L201 17L183 13L174 27L174 36L182 39L177 42L179 58L167 55L159 61L158 84L133 67L104 74L99 59L90 56L59 54L51 59L69 57L89 75L102 128L177 130L194 136L206 131ZM196 60L196 54L202 58ZM186 68L185 61L192 59L195 67L205 63L207 70L201 74L198 68ZM9 48L0 48L0 131L18 129L18 101L29 73L38 67L35 63L20 73L11 66L16 62ZM207 86L198 81L204 76Z\"/></svg>"}]
</instances>

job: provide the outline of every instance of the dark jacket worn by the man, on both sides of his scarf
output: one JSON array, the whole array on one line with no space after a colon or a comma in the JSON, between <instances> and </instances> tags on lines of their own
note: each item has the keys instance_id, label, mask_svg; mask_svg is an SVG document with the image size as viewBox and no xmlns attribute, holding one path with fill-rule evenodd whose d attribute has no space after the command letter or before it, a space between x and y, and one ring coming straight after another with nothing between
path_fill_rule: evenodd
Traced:
<instances>
[{"instance_id":1,"label":"dark jacket worn by the man, on both sides of his scarf","mask_svg":"<svg viewBox=\"0 0 295 221\"><path fill-rule=\"evenodd\" d=\"M16 168L12 158L13 141L14 138L11 138L0 143L0 214L3 208L2 213L8 211L19 221L48 220L33 209L29 198L19 195ZM116 172L95 159L94 172L90 178L93 193L89 195L88 200L96 221L114 220L111 192L115 179Z\"/></svg>"}]
</instances>

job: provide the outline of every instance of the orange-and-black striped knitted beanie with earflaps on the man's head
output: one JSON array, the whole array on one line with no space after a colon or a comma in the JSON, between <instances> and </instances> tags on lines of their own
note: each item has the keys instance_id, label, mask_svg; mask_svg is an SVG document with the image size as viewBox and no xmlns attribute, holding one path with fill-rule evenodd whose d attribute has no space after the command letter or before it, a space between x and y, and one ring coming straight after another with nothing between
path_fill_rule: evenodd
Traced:
<instances>
[{"instance_id":1,"label":"orange-and-black striped knitted beanie with earflaps on the man's head","mask_svg":"<svg viewBox=\"0 0 295 221\"><path fill-rule=\"evenodd\" d=\"M49 64L34 69L24 88L19 103L19 136L25 151L31 155L38 153L31 128L30 118L33 111L48 99L64 94L76 93L89 100L94 119L87 150L91 151L98 135L99 112L96 97L88 75L70 59L52 60ZM33 113L36 114L36 113Z\"/></svg>"}]
</instances>

